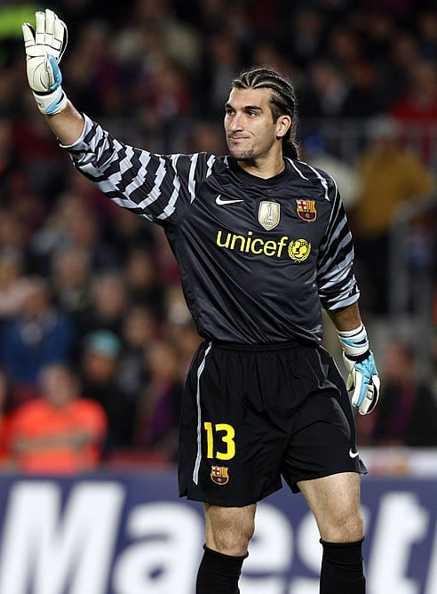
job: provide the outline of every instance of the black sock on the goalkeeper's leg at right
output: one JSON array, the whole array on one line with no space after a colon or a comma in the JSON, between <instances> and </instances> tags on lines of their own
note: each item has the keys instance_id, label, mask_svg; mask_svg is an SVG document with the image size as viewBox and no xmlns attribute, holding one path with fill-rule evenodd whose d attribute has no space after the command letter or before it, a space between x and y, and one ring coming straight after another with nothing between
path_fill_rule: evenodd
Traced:
<instances>
[{"instance_id":1,"label":"black sock on the goalkeeper's leg at right","mask_svg":"<svg viewBox=\"0 0 437 594\"><path fill-rule=\"evenodd\" d=\"M365 594L362 541L321 542L323 557L320 594Z\"/></svg>"}]
</instances>

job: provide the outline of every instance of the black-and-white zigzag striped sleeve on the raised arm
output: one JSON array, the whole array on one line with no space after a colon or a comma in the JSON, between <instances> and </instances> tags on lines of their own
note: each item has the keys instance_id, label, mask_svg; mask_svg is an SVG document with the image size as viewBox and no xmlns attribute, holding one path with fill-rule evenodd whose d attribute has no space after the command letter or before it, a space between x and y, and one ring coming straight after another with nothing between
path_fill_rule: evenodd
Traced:
<instances>
[{"instance_id":1,"label":"black-and-white zigzag striped sleeve on the raised arm","mask_svg":"<svg viewBox=\"0 0 437 594\"><path fill-rule=\"evenodd\" d=\"M156 155L116 140L85 116L81 137L63 146L75 168L115 204L148 221L175 222L195 198L196 184L214 157Z\"/></svg>"}]
</instances>

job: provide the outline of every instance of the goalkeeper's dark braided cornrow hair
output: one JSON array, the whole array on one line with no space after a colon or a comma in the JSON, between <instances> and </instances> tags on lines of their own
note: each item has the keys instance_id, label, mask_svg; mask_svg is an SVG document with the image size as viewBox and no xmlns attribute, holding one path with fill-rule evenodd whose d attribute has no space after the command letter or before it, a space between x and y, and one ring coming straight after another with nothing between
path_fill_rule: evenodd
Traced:
<instances>
[{"instance_id":1,"label":"goalkeeper's dark braided cornrow hair","mask_svg":"<svg viewBox=\"0 0 437 594\"><path fill-rule=\"evenodd\" d=\"M274 122L279 116L286 114L291 117L288 132L282 138L284 157L298 158L298 142L296 131L298 127L298 100L293 85L273 68L250 68L234 78L231 83L233 89L270 89L272 98L270 108Z\"/></svg>"}]
</instances>

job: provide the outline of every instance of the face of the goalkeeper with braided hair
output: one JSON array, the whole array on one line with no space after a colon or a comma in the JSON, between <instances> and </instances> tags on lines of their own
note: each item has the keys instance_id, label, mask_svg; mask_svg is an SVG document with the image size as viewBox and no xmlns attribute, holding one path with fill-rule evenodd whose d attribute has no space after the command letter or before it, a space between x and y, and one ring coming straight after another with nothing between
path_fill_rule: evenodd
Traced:
<instances>
[{"instance_id":1,"label":"face of the goalkeeper with braided hair","mask_svg":"<svg viewBox=\"0 0 437 594\"><path fill-rule=\"evenodd\" d=\"M232 157L254 162L279 141L280 120L273 121L269 89L233 89L225 109L226 142Z\"/></svg>"}]
</instances>

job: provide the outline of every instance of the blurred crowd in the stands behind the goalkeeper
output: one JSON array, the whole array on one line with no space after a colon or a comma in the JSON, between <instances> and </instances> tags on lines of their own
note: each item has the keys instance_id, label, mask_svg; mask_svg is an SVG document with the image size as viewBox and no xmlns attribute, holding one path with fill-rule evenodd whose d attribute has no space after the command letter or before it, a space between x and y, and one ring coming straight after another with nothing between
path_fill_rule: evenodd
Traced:
<instances>
[{"instance_id":1,"label":"blurred crowd in the stands behind the goalkeeper","mask_svg":"<svg viewBox=\"0 0 437 594\"><path fill-rule=\"evenodd\" d=\"M364 316L385 320L393 218L435 191L437 7L1 0L0 461L35 471L174 462L184 376L201 339L162 230L76 173L37 111L20 23L44 8L68 24L68 97L154 152L224 154L232 77L254 64L289 76L302 156L336 177L345 202ZM409 265L432 279L434 327L436 210L435 201L419 209L408 238ZM437 446L435 368L424 384L401 341L387 344L379 367L386 396L362 443Z\"/></svg>"}]
</instances>

